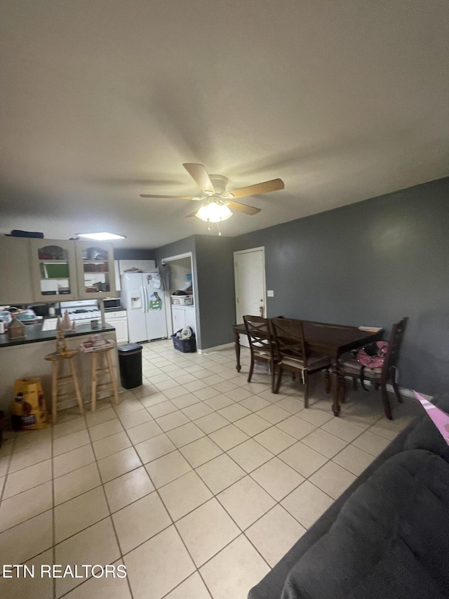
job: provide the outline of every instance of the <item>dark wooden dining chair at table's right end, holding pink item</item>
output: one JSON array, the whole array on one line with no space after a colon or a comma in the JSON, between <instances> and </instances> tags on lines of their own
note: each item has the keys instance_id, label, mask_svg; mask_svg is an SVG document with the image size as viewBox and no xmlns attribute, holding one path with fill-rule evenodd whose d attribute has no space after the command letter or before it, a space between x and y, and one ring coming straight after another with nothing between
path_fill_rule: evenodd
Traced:
<instances>
[{"instance_id":1,"label":"dark wooden dining chair at table's right end, holding pink item","mask_svg":"<svg viewBox=\"0 0 449 599\"><path fill-rule=\"evenodd\" d=\"M399 353L401 350L401 344L403 336L406 331L408 318L404 317L399 322L393 325L391 328L391 334L388 342L387 355L385 356L384 363L380 368L366 367L363 371L363 376L370 380L375 389L380 388L382 397L382 404L384 405L384 412L387 419L392 420L391 405L387 393L387 383L391 382L394 393L398 398L398 402L402 403L401 393L399 393L397 383L397 364L399 360ZM340 400L344 399L346 393L346 383L344 376L350 376L354 385L357 388L357 378L361 374L361 365L357 362L356 357L342 358L340 361L340 388L339 395Z\"/></svg>"}]
</instances>

